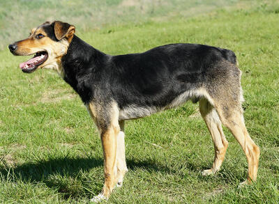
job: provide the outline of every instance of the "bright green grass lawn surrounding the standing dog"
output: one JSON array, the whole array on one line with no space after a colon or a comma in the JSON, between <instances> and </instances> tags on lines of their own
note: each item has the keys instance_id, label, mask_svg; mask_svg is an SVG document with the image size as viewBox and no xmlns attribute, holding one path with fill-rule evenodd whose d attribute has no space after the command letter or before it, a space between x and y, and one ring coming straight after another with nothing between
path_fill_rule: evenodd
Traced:
<instances>
[{"instance_id":1,"label":"bright green grass lawn surrounding the standing dog","mask_svg":"<svg viewBox=\"0 0 279 204\"><path fill-rule=\"evenodd\" d=\"M130 120L129 171L108 203L279 202L279 6L259 2L78 32L108 54L172 42L234 50L243 71L246 126L262 150L257 182L239 188L248 166L227 129L229 148L220 173L202 177L214 151L197 104ZM70 86L47 70L23 74L18 64L24 59L0 52L0 203L89 202L103 187L98 132Z\"/></svg>"}]
</instances>

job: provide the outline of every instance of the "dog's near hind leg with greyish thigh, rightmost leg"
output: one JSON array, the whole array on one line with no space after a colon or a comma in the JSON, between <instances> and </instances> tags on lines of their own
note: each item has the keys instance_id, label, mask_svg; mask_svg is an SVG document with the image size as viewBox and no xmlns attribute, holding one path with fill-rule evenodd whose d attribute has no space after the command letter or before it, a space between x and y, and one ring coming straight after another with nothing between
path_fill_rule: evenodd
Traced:
<instances>
[{"instance_id":1,"label":"dog's near hind leg with greyish thigh, rightmost leg","mask_svg":"<svg viewBox=\"0 0 279 204\"><path fill-rule=\"evenodd\" d=\"M250 138L244 123L240 79L239 68L232 63L222 61L211 68L205 88L209 102L216 108L221 122L232 132L246 155L248 182L251 182L257 178L259 147Z\"/></svg>"}]
</instances>

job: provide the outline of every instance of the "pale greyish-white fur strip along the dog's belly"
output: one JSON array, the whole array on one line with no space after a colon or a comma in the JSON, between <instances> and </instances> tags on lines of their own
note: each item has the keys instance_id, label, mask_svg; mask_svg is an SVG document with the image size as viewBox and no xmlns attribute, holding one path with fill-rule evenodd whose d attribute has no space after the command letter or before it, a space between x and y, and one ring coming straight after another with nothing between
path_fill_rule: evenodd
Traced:
<instances>
[{"instance_id":1,"label":"pale greyish-white fur strip along the dog's belly","mask_svg":"<svg viewBox=\"0 0 279 204\"><path fill-rule=\"evenodd\" d=\"M158 111L178 107L188 100L198 100L201 96L202 94L200 90L186 91L175 97L174 100L172 100L172 102L170 102L169 104L165 104L164 107L147 106L144 104L130 104L119 110L119 120L129 120L150 116L151 114Z\"/></svg>"}]
</instances>

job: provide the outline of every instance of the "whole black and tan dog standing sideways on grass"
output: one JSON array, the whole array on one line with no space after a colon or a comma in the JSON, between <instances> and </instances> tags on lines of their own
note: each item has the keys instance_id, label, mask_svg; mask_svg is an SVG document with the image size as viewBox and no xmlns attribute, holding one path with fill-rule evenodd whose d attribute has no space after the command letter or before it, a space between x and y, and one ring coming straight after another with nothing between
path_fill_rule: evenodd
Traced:
<instances>
[{"instance_id":1,"label":"whole black and tan dog standing sideways on grass","mask_svg":"<svg viewBox=\"0 0 279 204\"><path fill-rule=\"evenodd\" d=\"M141 54L110 56L75 36L75 26L45 22L29 38L9 45L15 55L33 55L23 72L51 68L80 95L100 131L105 184L94 201L109 198L127 171L124 121L177 107L187 100L199 110L212 136L215 159L203 175L216 173L228 142L222 123L239 141L248 160L248 180L255 181L259 148L244 124L241 71L234 52L218 47L173 44Z\"/></svg>"}]
</instances>

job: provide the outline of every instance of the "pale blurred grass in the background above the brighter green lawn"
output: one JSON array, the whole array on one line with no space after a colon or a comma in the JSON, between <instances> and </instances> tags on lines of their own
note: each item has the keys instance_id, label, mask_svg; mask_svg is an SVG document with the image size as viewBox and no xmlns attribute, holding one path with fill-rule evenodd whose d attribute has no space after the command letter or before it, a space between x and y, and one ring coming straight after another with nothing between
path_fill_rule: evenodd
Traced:
<instances>
[{"instance_id":1,"label":"pale blurred grass in the background above the brighter green lawn","mask_svg":"<svg viewBox=\"0 0 279 204\"><path fill-rule=\"evenodd\" d=\"M26 38L33 27L45 21L61 20L78 26L79 32L99 30L112 24L172 17L192 17L216 8L235 5L240 0L13 0L0 1L0 49ZM252 0L248 1L253 3Z\"/></svg>"}]
</instances>

